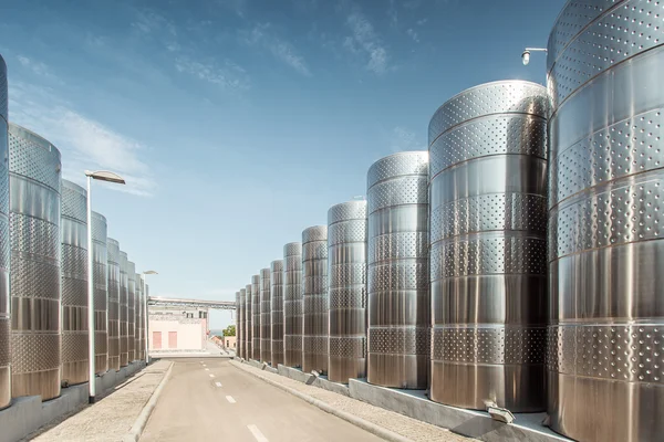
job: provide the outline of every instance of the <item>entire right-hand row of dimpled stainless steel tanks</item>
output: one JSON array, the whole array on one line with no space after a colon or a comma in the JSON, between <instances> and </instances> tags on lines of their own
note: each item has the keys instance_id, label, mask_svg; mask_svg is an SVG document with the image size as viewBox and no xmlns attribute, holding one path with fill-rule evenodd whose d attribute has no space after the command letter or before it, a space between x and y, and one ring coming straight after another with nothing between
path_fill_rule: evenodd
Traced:
<instances>
[{"instance_id":1,"label":"entire right-hand row of dimpled stainless steel tanks","mask_svg":"<svg viewBox=\"0 0 664 442\"><path fill-rule=\"evenodd\" d=\"M664 2L569 1L548 90L464 91L434 114L428 152L371 166L366 201L272 263L271 306L263 285L260 303L237 294L240 356L547 410L580 441L661 440L663 20Z\"/></svg>"}]
</instances>

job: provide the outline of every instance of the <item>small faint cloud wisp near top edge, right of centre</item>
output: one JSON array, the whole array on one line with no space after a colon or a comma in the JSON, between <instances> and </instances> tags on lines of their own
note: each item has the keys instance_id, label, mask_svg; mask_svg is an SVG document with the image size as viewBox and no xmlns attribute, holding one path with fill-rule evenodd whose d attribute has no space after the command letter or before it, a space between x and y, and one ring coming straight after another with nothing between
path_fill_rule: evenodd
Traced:
<instances>
[{"instance_id":1,"label":"small faint cloud wisp near top edge, right of centre","mask_svg":"<svg viewBox=\"0 0 664 442\"><path fill-rule=\"evenodd\" d=\"M346 20L352 35L344 41L344 46L351 52L369 56L366 69L383 74L388 70L390 55L383 46L381 39L374 31L371 22L359 11L351 13Z\"/></svg>"}]
</instances>

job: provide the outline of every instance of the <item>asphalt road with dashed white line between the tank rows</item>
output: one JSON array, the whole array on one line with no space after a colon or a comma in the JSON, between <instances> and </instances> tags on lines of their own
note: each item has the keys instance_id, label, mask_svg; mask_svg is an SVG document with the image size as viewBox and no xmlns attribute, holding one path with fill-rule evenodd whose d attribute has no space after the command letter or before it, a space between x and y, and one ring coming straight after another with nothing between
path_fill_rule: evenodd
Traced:
<instances>
[{"instance_id":1,"label":"asphalt road with dashed white line between the tank rows","mask_svg":"<svg viewBox=\"0 0 664 442\"><path fill-rule=\"evenodd\" d=\"M175 365L141 441L380 441L234 368L226 359Z\"/></svg>"}]
</instances>

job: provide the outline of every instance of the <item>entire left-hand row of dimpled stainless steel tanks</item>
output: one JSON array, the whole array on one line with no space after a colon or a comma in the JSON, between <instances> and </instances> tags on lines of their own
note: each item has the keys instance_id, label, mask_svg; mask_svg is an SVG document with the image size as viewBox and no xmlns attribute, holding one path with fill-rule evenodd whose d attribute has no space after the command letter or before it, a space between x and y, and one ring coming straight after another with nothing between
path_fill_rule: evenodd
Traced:
<instances>
[{"instance_id":1,"label":"entire left-hand row of dimpled stainless steel tanks","mask_svg":"<svg viewBox=\"0 0 664 442\"><path fill-rule=\"evenodd\" d=\"M89 380L87 198L60 151L9 123L0 57L0 409ZM95 369L144 359L147 286L92 212Z\"/></svg>"}]
</instances>

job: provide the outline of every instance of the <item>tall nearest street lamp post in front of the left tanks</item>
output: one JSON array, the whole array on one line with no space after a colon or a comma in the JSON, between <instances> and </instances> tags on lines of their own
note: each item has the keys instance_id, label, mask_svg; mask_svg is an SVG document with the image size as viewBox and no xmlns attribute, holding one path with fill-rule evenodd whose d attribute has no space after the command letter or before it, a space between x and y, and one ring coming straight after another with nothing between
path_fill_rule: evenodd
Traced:
<instances>
[{"instance_id":1,"label":"tall nearest street lamp post in front of the left tanks","mask_svg":"<svg viewBox=\"0 0 664 442\"><path fill-rule=\"evenodd\" d=\"M116 185L124 185L125 180L116 173L100 170L91 172L85 170L85 177L87 177L87 385L90 386L87 402L94 403L96 397L96 383L95 383L95 349L94 349L94 281L93 278L93 256L92 256L92 193L91 182L93 179L100 181L115 182Z\"/></svg>"}]
</instances>

